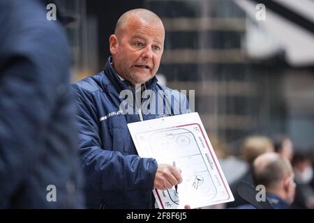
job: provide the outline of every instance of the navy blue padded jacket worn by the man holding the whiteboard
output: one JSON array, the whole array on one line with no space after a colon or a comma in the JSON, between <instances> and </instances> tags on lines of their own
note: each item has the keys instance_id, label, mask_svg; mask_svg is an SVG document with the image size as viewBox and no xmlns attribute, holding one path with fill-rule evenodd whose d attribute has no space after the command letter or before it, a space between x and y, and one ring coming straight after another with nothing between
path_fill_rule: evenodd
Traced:
<instances>
[{"instance_id":1,"label":"navy blue padded jacket worn by the man holding the whiteboard","mask_svg":"<svg viewBox=\"0 0 314 223\"><path fill-rule=\"evenodd\" d=\"M156 77L142 87L156 93L156 98L160 97L158 90L171 91L157 84ZM119 98L121 91L130 90L134 96L134 86L119 78L110 58L102 72L73 84L73 89L77 95L79 148L86 175L87 207L152 208L154 196L151 190L158 164L153 158L137 155L128 131L127 123L140 121L140 115L125 114L119 107L125 99ZM182 109L176 106L181 101L181 105L188 107L185 95L171 92L170 100L174 103L165 100L170 105L168 111L161 114L144 112L142 118L147 120L188 112L185 106ZM130 96L127 100L133 101L133 98ZM136 108L135 105L131 110Z\"/></svg>"}]
</instances>

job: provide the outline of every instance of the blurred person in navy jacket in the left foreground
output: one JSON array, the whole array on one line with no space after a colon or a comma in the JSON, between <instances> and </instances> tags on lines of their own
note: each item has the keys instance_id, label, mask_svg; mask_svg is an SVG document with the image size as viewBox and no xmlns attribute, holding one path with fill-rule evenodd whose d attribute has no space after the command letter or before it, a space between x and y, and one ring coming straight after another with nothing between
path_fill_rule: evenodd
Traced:
<instances>
[{"instance_id":1,"label":"blurred person in navy jacket in the left foreground","mask_svg":"<svg viewBox=\"0 0 314 223\"><path fill-rule=\"evenodd\" d=\"M83 208L68 47L45 8L0 1L0 208Z\"/></svg>"}]
</instances>

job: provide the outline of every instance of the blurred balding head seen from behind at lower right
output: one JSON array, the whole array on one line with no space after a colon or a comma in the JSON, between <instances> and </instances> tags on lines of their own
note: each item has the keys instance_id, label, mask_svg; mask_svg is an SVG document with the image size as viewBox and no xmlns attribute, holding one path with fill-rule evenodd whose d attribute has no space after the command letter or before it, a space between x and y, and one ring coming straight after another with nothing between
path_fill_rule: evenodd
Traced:
<instances>
[{"instance_id":1,"label":"blurred balding head seen from behind at lower right","mask_svg":"<svg viewBox=\"0 0 314 223\"><path fill-rule=\"evenodd\" d=\"M293 171L287 158L278 153L264 153L253 162L253 176L257 185L264 185L267 189L274 189L278 183Z\"/></svg>"}]
</instances>

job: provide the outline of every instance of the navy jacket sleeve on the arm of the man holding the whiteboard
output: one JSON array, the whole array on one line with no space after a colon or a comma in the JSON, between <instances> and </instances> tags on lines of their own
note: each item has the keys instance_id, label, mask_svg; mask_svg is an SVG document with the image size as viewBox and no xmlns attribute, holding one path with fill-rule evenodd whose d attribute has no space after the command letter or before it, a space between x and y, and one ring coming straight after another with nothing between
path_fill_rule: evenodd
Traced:
<instances>
[{"instance_id":1,"label":"navy jacket sleeve on the arm of the man holding the whiteboard","mask_svg":"<svg viewBox=\"0 0 314 223\"><path fill-rule=\"evenodd\" d=\"M87 190L152 190L158 164L152 158L102 148L94 98L73 84L77 96L79 150Z\"/></svg>"}]
</instances>

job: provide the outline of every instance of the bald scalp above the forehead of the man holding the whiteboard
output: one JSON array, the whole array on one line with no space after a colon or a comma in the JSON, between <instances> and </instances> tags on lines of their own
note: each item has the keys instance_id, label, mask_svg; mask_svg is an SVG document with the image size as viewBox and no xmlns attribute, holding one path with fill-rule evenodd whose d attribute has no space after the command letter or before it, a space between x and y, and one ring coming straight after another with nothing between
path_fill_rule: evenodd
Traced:
<instances>
[{"instance_id":1,"label":"bald scalp above the forehead of the man holding the whiteboard","mask_svg":"<svg viewBox=\"0 0 314 223\"><path fill-rule=\"evenodd\" d=\"M146 22L148 24L162 24L163 22L160 20L160 17L150 10L144 8L137 8L133 10L129 10L119 18L116 28L114 29L114 35L121 36L124 33L124 29L130 22L134 21Z\"/></svg>"}]
</instances>

